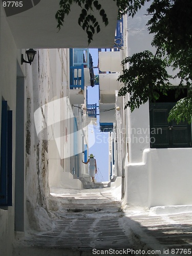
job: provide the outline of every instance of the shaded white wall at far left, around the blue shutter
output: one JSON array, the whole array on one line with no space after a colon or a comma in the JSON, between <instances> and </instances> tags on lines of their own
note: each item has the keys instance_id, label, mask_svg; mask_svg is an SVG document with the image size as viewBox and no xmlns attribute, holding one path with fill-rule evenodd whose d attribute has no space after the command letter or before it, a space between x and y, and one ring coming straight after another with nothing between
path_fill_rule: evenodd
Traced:
<instances>
[{"instance_id":1,"label":"shaded white wall at far left, around the blue shutter","mask_svg":"<svg viewBox=\"0 0 192 256\"><path fill-rule=\"evenodd\" d=\"M16 111L16 56L17 49L6 22L2 2L0 3L0 113L2 110L2 97L8 101L13 111L13 188L15 177L15 111ZM1 131L1 118L0 118ZM0 136L1 138L1 136ZM1 150L1 149L0 149ZM12 240L14 238L14 193L13 206L0 207L0 253L12 255Z\"/></svg>"}]
</instances>

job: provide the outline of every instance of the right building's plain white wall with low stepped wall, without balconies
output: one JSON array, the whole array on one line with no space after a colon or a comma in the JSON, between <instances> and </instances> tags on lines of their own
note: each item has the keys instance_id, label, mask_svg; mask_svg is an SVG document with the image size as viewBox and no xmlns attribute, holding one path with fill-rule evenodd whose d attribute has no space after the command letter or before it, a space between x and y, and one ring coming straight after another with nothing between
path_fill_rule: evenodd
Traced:
<instances>
[{"instance_id":1,"label":"right building's plain white wall with low stepped wall, without balconies","mask_svg":"<svg viewBox=\"0 0 192 256\"><path fill-rule=\"evenodd\" d=\"M147 4L149 5L149 4ZM125 25L125 56L155 49L153 35L145 26L146 7ZM177 84L177 80L174 84ZM123 97L124 102L129 95ZM121 113L123 133L124 190L123 204L132 207L192 204L191 148L150 149L150 119L148 102L131 113Z\"/></svg>"}]
</instances>

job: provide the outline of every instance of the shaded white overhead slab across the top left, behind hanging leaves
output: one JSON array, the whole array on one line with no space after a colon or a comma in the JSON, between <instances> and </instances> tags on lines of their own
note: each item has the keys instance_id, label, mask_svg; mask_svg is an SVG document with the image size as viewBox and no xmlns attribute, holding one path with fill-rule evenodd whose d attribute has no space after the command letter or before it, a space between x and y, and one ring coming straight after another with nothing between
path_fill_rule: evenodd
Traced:
<instances>
[{"instance_id":1,"label":"shaded white overhead slab across the top left, behind hanging leaves","mask_svg":"<svg viewBox=\"0 0 192 256\"><path fill-rule=\"evenodd\" d=\"M23 1L20 13L5 10L15 44L18 49L25 48L85 48L88 47L87 33L78 25L81 8L73 4L60 31L57 30L55 14L60 0ZM17 10L18 10L17 8ZM93 36L90 48L111 48L114 46L118 7L115 1L102 1L109 25L105 27L99 12L93 14L100 24L101 31ZM18 11L17 11L18 12Z\"/></svg>"}]
</instances>

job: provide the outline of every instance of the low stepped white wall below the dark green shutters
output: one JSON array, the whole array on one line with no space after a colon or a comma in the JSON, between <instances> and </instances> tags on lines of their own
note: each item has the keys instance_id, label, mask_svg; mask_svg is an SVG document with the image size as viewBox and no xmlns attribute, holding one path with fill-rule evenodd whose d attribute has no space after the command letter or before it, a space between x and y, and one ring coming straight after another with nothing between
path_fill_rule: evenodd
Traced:
<instances>
[{"instance_id":1,"label":"low stepped white wall below the dark green shutters","mask_svg":"<svg viewBox=\"0 0 192 256\"><path fill-rule=\"evenodd\" d=\"M125 166L124 204L154 207L192 204L192 148L143 152L141 163Z\"/></svg>"}]
</instances>

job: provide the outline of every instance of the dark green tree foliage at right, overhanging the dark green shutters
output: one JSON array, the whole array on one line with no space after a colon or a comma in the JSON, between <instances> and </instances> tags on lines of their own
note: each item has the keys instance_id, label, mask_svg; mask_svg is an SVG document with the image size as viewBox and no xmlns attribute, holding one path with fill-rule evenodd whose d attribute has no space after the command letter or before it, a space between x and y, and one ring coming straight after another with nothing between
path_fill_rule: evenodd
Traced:
<instances>
[{"instance_id":1,"label":"dark green tree foliage at right, overhanging the dark green shutters","mask_svg":"<svg viewBox=\"0 0 192 256\"><path fill-rule=\"evenodd\" d=\"M129 7L129 15L133 17L136 13L134 4L137 4L136 0L132 1L132 5ZM192 1L154 0L146 10L146 15L151 17L146 26L148 31L154 34L152 46L156 47L157 52L155 55L152 53L146 55L146 51L140 53L138 56L142 57L140 57L139 66L138 61L135 59L137 55L126 58L129 68L125 69L119 77L119 80L125 83L124 87L119 91L119 96L132 91L131 98L126 106L130 106L131 111L133 111L140 104L146 102L147 94L150 100L158 99L158 92L166 95L167 86L170 85L167 79L172 78L166 73L166 67L171 67L176 72L173 78L179 78L180 80L178 88L186 86L189 91L188 96L178 101L170 112L169 121L175 119L180 122L186 118L188 122L191 122ZM148 63L151 60L152 62ZM122 63L126 62L123 61ZM157 63L160 66L157 66ZM145 75L143 75L143 66L145 65L147 65L148 69L145 69ZM132 70L135 70L135 73L131 73ZM158 70L162 72L160 83L158 82L159 76L155 72ZM133 83L134 79L136 82L134 81ZM142 90L138 91L139 84L143 88L143 92ZM159 86L159 84L161 85ZM136 94L136 92L138 93ZM178 93L179 90L177 90Z\"/></svg>"}]
</instances>

